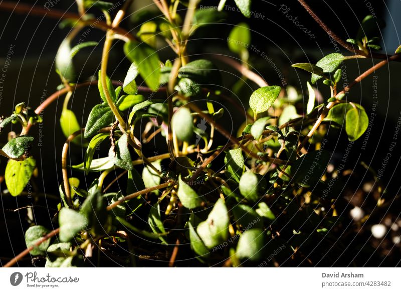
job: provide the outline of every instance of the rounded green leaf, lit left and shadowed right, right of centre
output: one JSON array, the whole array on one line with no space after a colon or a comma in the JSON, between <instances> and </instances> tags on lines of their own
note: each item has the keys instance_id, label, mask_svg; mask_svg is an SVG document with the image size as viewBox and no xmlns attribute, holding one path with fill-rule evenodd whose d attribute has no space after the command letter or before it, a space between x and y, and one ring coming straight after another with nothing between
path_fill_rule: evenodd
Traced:
<instances>
[{"instance_id":1,"label":"rounded green leaf, lit left and shadowed right, right of centre","mask_svg":"<svg viewBox=\"0 0 401 292\"><path fill-rule=\"evenodd\" d=\"M259 201L266 188L266 180L258 174L248 171L240 180L240 192L250 202Z\"/></svg>"}]
</instances>

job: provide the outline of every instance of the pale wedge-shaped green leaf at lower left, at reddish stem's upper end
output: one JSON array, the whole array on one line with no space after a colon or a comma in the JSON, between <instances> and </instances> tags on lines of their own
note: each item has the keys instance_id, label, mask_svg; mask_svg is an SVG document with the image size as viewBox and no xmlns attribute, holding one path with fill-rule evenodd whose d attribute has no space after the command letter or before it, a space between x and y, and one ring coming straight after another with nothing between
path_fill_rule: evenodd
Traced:
<instances>
[{"instance_id":1,"label":"pale wedge-shaped green leaf at lower left, at reddish stem's upper end","mask_svg":"<svg viewBox=\"0 0 401 292\"><path fill-rule=\"evenodd\" d=\"M61 208L59 213L60 233L59 239L62 242L68 242L74 236L88 225L88 220L79 212Z\"/></svg>"}]
</instances>

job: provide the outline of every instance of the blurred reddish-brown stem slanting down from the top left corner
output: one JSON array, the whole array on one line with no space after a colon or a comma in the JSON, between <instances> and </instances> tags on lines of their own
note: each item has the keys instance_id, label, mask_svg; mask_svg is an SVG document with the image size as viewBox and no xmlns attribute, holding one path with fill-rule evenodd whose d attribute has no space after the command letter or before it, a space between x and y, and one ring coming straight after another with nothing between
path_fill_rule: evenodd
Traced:
<instances>
[{"instance_id":1,"label":"blurred reddish-brown stem slanting down from the top left corner","mask_svg":"<svg viewBox=\"0 0 401 292\"><path fill-rule=\"evenodd\" d=\"M18 14L24 14L24 15L31 14L31 15L38 15L38 16L46 16L49 18L57 19L57 20L61 20L61 19L78 20L82 24L89 25L89 26L95 26L103 31L112 30L114 33L122 35L122 36L128 38L129 40L135 40L135 38L124 29L121 29L118 27L112 27L102 21L82 20L81 16L79 16L75 13L59 11L59 10L56 10L53 8L51 10L47 10L44 8L38 8L35 6L31 7L30 5L27 5L27 4L21 4L21 3L17 4L17 3L9 2L9 1L2 1L0 3L0 9L6 10L6 11L11 11L11 12L16 12Z\"/></svg>"}]
</instances>

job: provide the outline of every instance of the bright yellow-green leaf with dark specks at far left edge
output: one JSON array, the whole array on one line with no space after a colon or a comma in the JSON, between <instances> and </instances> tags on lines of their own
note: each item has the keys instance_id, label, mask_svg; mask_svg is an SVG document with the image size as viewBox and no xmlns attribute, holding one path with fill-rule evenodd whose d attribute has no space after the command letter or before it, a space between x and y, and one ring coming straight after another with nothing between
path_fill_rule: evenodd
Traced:
<instances>
[{"instance_id":1,"label":"bright yellow-green leaf with dark specks at far left edge","mask_svg":"<svg viewBox=\"0 0 401 292\"><path fill-rule=\"evenodd\" d=\"M7 189L12 196L18 196L24 190L35 170L36 161L29 157L24 161L9 160L5 179Z\"/></svg>"}]
</instances>

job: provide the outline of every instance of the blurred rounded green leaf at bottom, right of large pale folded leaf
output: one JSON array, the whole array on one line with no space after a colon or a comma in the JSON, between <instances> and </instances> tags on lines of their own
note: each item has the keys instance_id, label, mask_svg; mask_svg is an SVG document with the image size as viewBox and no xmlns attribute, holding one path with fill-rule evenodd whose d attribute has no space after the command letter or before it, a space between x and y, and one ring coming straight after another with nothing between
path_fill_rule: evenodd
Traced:
<instances>
[{"instance_id":1,"label":"blurred rounded green leaf at bottom, right of large pale folded leaf","mask_svg":"<svg viewBox=\"0 0 401 292\"><path fill-rule=\"evenodd\" d=\"M237 257L252 261L263 259L263 248L266 244L266 236L263 229L251 229L245 231L238 240Z\"/></svg>"}]
</instances>

